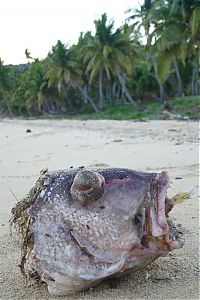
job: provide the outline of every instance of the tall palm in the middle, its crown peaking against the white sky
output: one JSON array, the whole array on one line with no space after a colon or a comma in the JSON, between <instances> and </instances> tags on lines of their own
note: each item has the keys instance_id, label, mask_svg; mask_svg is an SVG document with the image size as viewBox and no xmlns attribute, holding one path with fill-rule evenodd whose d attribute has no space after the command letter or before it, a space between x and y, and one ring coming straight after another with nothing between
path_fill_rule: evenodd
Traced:
<instances>
[{"instance_id":1,"label":"tall palm in the middle, its crown peaking against the white sky","mask_svg":"<svg viewBox=\"0 0 200 300\"><path fill-rule=\"evenodd\" d=\"M133 106L138 108L132 99L126 84L125 75L131 74L133 65L134 47L128 34L127 27L113 32L114 22L107 24L107 15L95 22L96 33L84 48L84 63L87 64L86 72L89 74L89 83L92 84L96 76L99 80L99 107L103 108L104 89L103 79L109 83L113 78L118 78L123 93Z\"/></svg>"}]
</instances>

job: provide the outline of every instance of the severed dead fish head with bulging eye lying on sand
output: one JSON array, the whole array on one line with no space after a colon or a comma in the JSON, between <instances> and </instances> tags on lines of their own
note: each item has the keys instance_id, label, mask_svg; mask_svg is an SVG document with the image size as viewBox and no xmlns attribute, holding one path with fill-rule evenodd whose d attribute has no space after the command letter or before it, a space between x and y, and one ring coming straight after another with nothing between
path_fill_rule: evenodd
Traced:
<instances>
[{"instance_id":1,"label":"severed dead fish head with bulging eye lying on sand","mask_svg":"<svg viewBox=\"0 0 200 300\"><path fill-rule=\"evenodd\" d=\"M167 197L169 185L166 172L106 167L46 173L23 210L26 242L27 236L32 241L23 256L25 273L34 270L50 293L65 295L143 269L182 247L182 233L168 219L175 203Z\"/></svg>"}]
</instances>

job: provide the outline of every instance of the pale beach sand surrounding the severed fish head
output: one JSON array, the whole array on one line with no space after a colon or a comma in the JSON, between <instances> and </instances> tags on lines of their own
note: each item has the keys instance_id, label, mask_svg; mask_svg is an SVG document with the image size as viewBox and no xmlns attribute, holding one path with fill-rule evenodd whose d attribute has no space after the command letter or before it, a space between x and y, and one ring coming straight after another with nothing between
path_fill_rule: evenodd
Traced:
<instances>
[{"instance_id":1,"label":"pale beach sand surrounding the severed fish head","mask_svg":"<svg viewBox=\"0 0 200 300\"><path fill-rule=\"evenodd\" d=\"M30 129L31 132L26 132ZM173 195L193 189L172 217L183 225L185 246L145 271L60 299L199 299L198 123L192 121L0 121L0 299L59 299L45 284L20 273L20 245L10 236L10 210L39 171L108 163L148 172L167 170Z\"/></svg>"}]
</instances>

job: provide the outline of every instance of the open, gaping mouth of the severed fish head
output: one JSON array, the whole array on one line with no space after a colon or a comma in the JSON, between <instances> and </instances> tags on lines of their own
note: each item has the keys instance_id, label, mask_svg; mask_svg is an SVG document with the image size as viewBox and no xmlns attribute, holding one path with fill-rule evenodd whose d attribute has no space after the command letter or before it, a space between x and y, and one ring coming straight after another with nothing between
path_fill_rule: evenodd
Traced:
<instances>
[{"instance_id":1,"label":"open, gaping mouth of the severed fish head","mask_svg":"<svg viewBox=\"0 0 200 300\"><path fill-rule=\"evenodd\" d=\"M169 218L173 204L167 197L170 179L167 172L156 175L144 202L144 234L142 244L151 248L156 244L160 250L172 251L183 247L183 233Z\"/></svg>"}]
</instances>

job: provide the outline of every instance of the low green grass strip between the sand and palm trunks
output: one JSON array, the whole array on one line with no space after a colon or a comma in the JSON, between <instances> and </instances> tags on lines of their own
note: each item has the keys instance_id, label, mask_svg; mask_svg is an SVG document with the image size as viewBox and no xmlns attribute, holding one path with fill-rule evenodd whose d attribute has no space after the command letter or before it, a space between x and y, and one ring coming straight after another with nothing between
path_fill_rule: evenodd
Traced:
<instances>
[{"instance_id":1,"label":"low green grass strip between the sand and palm trunks","mask_svg":"<svg viewBox=\"0 0 200 300\"><path fill-rule=\"evenodd\" d=\"M169 100L170 112L190 119L199 118L200 96L175 98ZM99 113L48 116L49 119L75 120L158 120L163 118L163 106L158 102L143 102L141 111L135 110L129 103L108 106ZM46 118L46 117L45 117Z\"/></svg>"}]
</instances>

